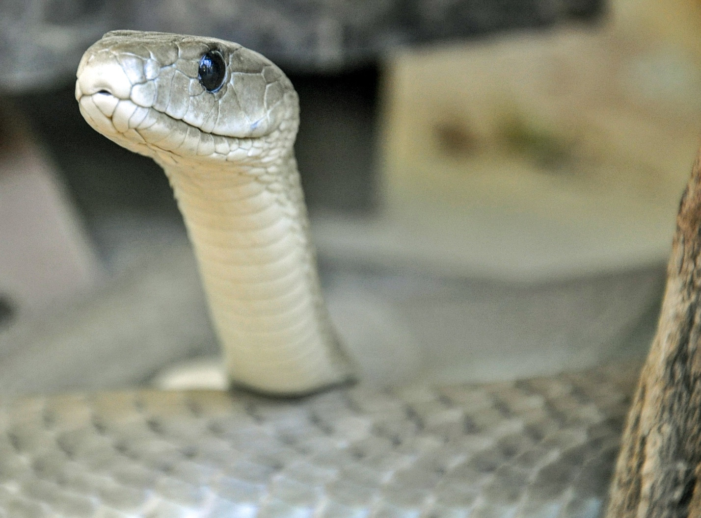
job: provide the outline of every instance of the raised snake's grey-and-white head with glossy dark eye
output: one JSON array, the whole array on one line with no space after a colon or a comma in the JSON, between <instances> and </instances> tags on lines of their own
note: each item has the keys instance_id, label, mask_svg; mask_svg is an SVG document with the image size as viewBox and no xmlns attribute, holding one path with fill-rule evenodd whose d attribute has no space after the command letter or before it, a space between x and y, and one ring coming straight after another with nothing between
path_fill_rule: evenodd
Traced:
<instances>
[{"instance_id":1,"label":"raised snake's grey-and-white head with glossy dark eye","mask_svg":"<svg viewBox=\"0 0 701 518\"><path fill-rule=\"evenodd\" d=\"M290 80L236 43L112 31L86 50L76 75L86 121L159 162L269 161L289 153L297 134Z\"/></svg>"}]
</instances>

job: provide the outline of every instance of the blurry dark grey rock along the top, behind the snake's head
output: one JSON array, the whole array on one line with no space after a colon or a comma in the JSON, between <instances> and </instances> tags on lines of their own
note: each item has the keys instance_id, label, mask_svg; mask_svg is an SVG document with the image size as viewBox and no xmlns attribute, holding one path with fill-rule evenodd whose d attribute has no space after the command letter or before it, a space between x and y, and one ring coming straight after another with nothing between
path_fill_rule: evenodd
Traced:
<instances>
[{"instance_id":1,"label":"blurry dark grey rock along the top, behind the snake's head","mask_svg":"<svg viewBox=\"0 0 701 518\"><path fill-rule=\"evenodd\" d=\"M0 90L67 81L111 29L216 36L287 69L338 71L399 45L596 18L603 0L0 0Z\"/></svg>"}]
</instances>

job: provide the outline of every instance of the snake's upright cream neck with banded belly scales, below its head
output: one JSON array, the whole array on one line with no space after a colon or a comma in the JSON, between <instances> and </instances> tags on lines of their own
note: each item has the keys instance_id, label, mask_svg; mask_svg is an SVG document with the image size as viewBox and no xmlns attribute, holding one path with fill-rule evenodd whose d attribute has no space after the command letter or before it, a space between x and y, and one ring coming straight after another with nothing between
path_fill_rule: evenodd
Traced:
<instances>
[{"instance_id":1,"label":"snake's upright cream neck with banded belly scales, below its head","mask_svg":"<svg viewBox=\"0 0 701 518\"><path fill-rule=\"evenodd\" d=\"M161 163L193 243L229 379L302 395L348 379L322 299L297 163Z\"/></svg>"}]
</instances>

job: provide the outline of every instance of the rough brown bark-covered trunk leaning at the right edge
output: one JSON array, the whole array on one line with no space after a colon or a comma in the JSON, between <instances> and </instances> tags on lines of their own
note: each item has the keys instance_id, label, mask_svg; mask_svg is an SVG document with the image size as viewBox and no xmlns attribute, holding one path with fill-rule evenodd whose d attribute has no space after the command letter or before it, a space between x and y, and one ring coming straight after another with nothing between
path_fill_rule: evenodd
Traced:
<instances>
[{"instance_id":1,"label":"rough brown bark-covered trunk leaning at the right edge","mask_svg":"<svg viewBox=\"0 0 701 518\"><path fill-rule=\"evenodd\" d=\"M609 518L701 514L701 167L683 193L667 287L616 465Z\"/></svg>"}]
</instances>

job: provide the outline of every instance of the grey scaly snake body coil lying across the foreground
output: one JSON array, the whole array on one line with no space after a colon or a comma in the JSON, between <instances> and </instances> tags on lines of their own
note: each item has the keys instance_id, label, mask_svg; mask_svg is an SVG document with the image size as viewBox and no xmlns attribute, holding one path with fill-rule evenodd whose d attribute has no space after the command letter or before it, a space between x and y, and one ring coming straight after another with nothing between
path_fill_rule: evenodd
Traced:
<instances>
[{"instance_id":1,"label":"grey scaly snake body coil lying across the foreground","mask_svg":"<svg viewBox=\"0 0 701 518\"><path fill-rule=\"evenodd\" d=\"M596 517L637 372L5 397L0 516Z\"/></svg>"}]
</instances>

